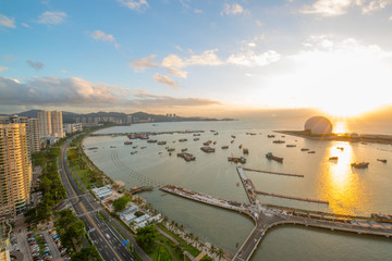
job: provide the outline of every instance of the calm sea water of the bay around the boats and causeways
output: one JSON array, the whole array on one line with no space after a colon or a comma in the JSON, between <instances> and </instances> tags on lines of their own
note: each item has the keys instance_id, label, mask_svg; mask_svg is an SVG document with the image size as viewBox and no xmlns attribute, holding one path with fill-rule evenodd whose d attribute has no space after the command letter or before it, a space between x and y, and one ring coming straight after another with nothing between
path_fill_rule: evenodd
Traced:
<instances>
[{"instance_id":1,"label":"calm sea water of the bay around the boats and causeways","mask_svg":"<svg viewBox=\"0 0 392 261\"><path fill-rule=\"evenodd\" d=\"M329 200L330 204L317 204L289 199L259 196L261 202L279 206L330 211L343 214L369 215L373 212L392 214L392 146L381 144L350 144L341 141L310 140L286 135L277 139L285 144L272 144L267 135L274 129L302 129L297 121L234 121L234 122L188 122L137 124L112 127L99 133L205 130L198 141L193 134L166 134L152 139L166 140L166 146L133 140L125 146L125 136L89 137L85 140L85 151L90 159L113 179L125 182L126 186L173 184L216 197L246 202L247 198L240 182L235 164L228 157L241 157L240 145L249 150L246 167L303 174L305 177L277 176L246 172L258 190ZM350 130L343 123L336 124L340 130ZM358 126L356 126L358 127ZM358 133L392 134L385 126L364 125L351 129ZM210 130L217 130L213 135ZM247 135L254 133L256 135ZM231 137L235 136L235 139ZM179 139L187 141L180 142ZM215 153L200 151L203 142L217 141ZM234 140L231 144L231 140ZM296 145L287 148L286 145ZM230 148L222 150L221 146ZM137 146L137 149L133 149ZM175 152L187 148L196 156L195 162L185 162L175 153L169 156L166 147ZM87 150L98 147L97 150ZM115 147L115 148L110 148ZM140 149L140 147L146 147ZM343 151L336 147L343 147ZM301 148L315 150L309 154ZM137 151L131 154L132 151ZM284 158L280 164L265 158L273 152ZM336 162L329 157L339 157ZM377 161L387 159L388 163ZM368 161L365 170L351 169L354 161ZM169 219L183 224L201 240L213 244L231 252L236 252L254 224L248 217L235 212L221 210L198 202L164 195L160 190L144 192L156 209ZM362 236L350 233L330 232L302 226L280 226L271 229L262 240L253 260L392 260L392 239Z\"/></svg>"}]
</instances>

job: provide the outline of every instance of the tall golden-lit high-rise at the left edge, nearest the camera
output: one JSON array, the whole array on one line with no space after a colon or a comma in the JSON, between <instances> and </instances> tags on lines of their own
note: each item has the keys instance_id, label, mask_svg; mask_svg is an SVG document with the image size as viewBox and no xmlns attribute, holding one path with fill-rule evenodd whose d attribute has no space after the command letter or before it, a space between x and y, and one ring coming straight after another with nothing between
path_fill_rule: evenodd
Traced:
<instances>
[{"instance_id":1,"label":"tall golden-lit high-rise at the left edge, nearest the camera","mask_svg":"<svg viewBox=\"0 0 392 261\"><path fill-rule=\"evenodd\" d=\"M28 203L32 162L26 125L0 124L0 215L15 215Z\"/></svg>"}]
</instances>

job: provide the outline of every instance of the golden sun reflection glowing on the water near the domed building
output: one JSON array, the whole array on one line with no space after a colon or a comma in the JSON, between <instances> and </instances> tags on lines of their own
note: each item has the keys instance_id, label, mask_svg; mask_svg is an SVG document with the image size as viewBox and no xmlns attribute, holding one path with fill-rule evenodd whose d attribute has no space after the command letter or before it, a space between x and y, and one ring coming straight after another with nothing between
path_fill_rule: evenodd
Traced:
<instances>
[{"instance_id":1,"label":"golden sun reflection glowing on the water near the domed building","mask_svg":"<svg viewBox=\"0 0 392 261\"><path fill-rule=\"evenodd\" d=\"M338 160L330 160L324 173L323 189L330 202L330 210L340 214L357 214L364 211L364 188L358 174L351 167L354 158L351 145L341 142L339 146L331 146L327 156L338 157Z\"/></svg>"}]
</instances>

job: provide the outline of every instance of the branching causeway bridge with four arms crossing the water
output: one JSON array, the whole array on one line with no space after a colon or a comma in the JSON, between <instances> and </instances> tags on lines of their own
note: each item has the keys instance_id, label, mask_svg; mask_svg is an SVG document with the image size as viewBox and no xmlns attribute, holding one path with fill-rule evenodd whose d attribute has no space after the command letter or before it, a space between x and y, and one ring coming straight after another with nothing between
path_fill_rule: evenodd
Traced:
<instances>
[{"instance_id":1,"label":"branching causeway bridge with four arms crossing the water","mask_svg":"<svg viewBox=\"0 0 392 261\"><path fill-rule=\"evenodd\" d=\"M320 211L305 211L261 204L257 198L257 190L254 184L241 166L237 166L237 173L248 196L249 203L216 198L173 185L160 188L166 192L236 211L252 217L255 222L255 227L235 253L233 261L249 260L267 231L277 225L295 224L331 231L392 237L392 220L379 221L367 216L339 215Z\"/></svg>"}]
</instances>

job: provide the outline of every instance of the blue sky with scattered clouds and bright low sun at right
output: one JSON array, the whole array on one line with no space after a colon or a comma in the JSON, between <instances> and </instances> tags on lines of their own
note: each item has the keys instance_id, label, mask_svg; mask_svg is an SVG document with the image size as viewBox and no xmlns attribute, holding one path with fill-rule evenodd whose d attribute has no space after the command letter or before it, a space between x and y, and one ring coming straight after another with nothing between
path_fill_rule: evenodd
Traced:
<instances>
[{"instance_id":1,"label":"blue sky with scattered clouds and bright low sun at right","mask_svg":"<svg viewBox=\"0 0 392 261\"><path fill-rule=\"evenodd\" d=\"M392 0L0 0L0 113L392 105Z\"/></svg>"}]
</instances>

